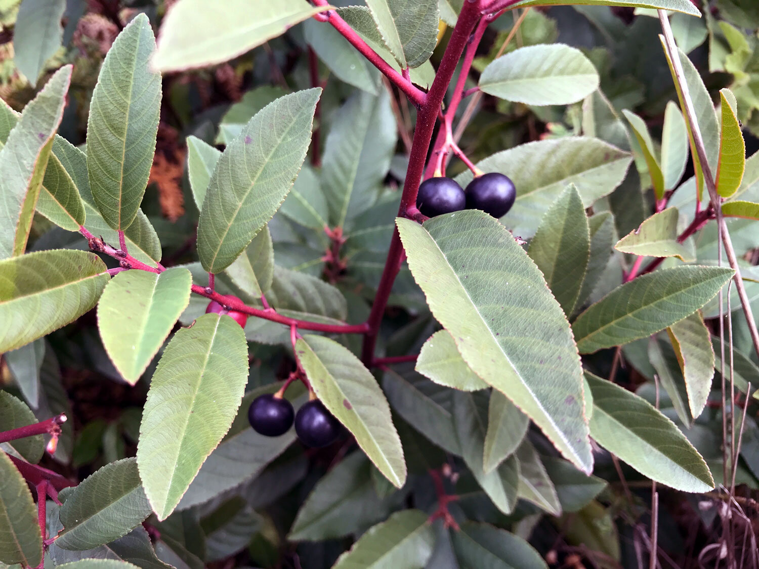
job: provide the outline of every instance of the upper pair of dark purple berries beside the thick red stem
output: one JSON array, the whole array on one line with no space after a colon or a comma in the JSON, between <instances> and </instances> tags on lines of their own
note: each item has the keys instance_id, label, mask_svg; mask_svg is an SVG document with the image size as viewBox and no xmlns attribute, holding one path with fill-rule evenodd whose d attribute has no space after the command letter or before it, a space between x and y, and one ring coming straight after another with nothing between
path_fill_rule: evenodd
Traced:
<instances>
[{"instance_id":1,"label":"upper pair of dark purple berries beside the thick red stem","mask_svg":"<svg viewBox=\"0 0 759 569\"><path fill-rule=\"evenodd\" d=\"M512 209L517 197L514 182L498 172L480 174L466 190L451 178L428 178L419 186L417 208L427 217L458 212L461 209L481 209L498 219Z\"/></svg>"}]
</instances>

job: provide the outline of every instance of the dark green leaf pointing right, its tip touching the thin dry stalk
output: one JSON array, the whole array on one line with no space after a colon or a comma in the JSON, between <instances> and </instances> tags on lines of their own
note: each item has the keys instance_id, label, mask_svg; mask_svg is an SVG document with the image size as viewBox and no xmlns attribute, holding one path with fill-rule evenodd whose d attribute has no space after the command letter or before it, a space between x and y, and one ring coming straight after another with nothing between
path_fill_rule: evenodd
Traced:
<instances>
[{"instance_id":1,"label":"dark green leaf pointing right, its tip touching the thin dry stalk","mask_svg":"<svg viewBox=\"0 0 759 569\"><path fill-rule=\"evenodd\" d=\"M656 334L703 307L732 277L723 267L679 266L641 275L595 303L572 324L582 354Z\"/></svg>"}]
</instances>

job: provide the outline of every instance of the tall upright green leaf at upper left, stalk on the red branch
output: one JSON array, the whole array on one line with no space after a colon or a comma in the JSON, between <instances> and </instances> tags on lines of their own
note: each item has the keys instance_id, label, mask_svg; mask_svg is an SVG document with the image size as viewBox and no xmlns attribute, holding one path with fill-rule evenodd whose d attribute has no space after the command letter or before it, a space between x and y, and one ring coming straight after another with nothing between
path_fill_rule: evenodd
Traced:
<instances>
[{"instance_id":1,"label":"tall upright green leaf at upper left, stalk on the red branch","mask_svg":"<svg viewBox=\"0 0 759 569\"><path fill-rule=\"evenodd\" d=\"M156 151L161 74L149 68L153 28L137 14L102 62L87 121L87 173L103 219L117 231L140 209Z\"/></svg>"}]
</instances>

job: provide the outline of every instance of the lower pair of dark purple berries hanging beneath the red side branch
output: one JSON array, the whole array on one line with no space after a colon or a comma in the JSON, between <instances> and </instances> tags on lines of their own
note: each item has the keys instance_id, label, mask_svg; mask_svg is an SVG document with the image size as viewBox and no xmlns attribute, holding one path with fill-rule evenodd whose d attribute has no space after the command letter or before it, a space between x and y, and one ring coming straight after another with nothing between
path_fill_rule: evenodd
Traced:
<instances>
[{"instance_id":1,"label":"lower pair of dark purple berries hanging beneath the red side branch","mask_svg":"<svg viewBox=\"0 0 759 569\"><path fill-rule=\"evenodd\" d=\"M250 426L259 435L284 435L295 423L295 433L301 442L313 448L332 445L340 435L340 423L318 399L303 404L296 414L290 401L282 394L269 393L255 398L247 410Z\"/></svg>"}]
</instances>

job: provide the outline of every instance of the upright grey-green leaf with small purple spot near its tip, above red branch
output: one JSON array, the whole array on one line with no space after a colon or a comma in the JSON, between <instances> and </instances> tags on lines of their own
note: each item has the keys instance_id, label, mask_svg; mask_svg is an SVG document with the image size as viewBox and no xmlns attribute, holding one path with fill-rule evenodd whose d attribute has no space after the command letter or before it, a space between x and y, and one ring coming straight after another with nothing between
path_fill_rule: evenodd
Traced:
<instances>
[{"instance_id":1,"label":"upright grey-green leaf with small purple spot near its tip, above red branch","mask_svg":"<svg viewBox=\"0 0 759 569\"><path fill-rule=\"evenodd\" d=\"M285 200L306 157L321 92L298 91L266 105L222 153L197 226L207 272L230 266Z\"/></svg>"}]
</instances>

